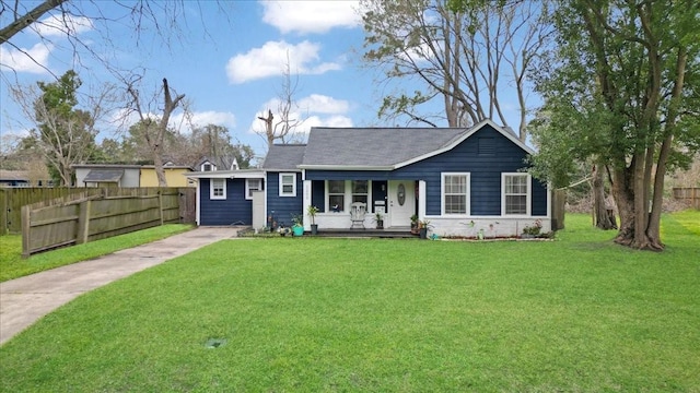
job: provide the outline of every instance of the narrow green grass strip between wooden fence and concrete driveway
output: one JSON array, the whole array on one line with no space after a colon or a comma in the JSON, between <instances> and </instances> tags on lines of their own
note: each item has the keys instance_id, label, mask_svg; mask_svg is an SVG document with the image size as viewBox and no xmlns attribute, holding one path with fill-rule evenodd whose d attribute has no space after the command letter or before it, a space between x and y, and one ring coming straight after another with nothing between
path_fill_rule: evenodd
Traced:
<instances>
[{"instance_id":1,"label":"narrow green grass strip between wooden fence and concrete driveway","mask_svg":"<svg viewBox=\"0 0 700 393\"><path fill-rule=\"evenodd\" d=\"M191 228L191 225L186 224L167 224L84 245L47 251L27 259L22 258L21 235L0 236L0 283L144 245Z\"/></svg>"}]
</instances>

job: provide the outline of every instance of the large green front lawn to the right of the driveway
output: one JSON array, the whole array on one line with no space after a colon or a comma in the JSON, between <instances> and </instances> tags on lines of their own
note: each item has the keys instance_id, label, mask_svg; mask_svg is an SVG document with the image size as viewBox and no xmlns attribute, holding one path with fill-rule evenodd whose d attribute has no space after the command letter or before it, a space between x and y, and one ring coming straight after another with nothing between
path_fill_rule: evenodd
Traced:
<instances>
[{"instance_id":1,"label":"large green front lawn to the right of the driveway","mask_svg":"<svg viewBox=\"0 0 700 393\"><path fill-rule=\"evenodd\" d=\"M544 242L220 241L8 342L0 391L700 392L698 221L661 253L572 215Z\"/></svg>"}]
</instances>

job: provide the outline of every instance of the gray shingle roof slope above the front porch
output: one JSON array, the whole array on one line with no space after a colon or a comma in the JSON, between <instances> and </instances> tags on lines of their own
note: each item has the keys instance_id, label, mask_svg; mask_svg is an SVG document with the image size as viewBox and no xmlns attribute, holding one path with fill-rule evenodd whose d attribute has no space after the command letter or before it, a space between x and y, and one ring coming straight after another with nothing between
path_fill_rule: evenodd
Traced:
<instances>
[{"instance_id":1,"label":"gray shingle roof slope above the front porch","mask_svg":"<svg viewBox=\"0 0 700 393\"><path fill-rule=\"evenodd\" d=\"M464 128L313 128L302 164L393 166L442 148L467 131Z\"/></svg>"}]
</instances>

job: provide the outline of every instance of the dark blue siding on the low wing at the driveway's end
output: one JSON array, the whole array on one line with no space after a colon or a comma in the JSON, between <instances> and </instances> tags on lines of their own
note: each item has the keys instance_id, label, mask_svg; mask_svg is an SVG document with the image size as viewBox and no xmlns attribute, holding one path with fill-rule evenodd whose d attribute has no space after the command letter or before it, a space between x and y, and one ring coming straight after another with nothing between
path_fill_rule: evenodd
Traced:
<instances>
[{"instance_id":1,"label":"dark blue siding on the low wing at the driveway's end","mask_svg":"<svg viewBox=\"0 0 700 393\"><path fill-rule=\"evenodd\" d=\"M226 199L210 200L210 179L200 180L200 225L252 225L253 203L245 199L245 180L226 179Z\"/></svg>"}]
</instances>

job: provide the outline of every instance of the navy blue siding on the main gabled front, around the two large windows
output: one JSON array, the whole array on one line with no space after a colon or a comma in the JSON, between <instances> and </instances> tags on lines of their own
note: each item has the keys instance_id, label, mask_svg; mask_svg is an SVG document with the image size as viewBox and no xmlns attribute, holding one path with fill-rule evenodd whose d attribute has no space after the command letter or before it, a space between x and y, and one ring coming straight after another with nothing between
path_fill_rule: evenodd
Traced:
<instances>
[{"instance_id":1,"label":"navy blue siding on the main gabled front, around the two large windows","mask_svg":"<svg viewBox=\"0 0 700 393\"><path fill-rule=\"evenodd\" d=\"M425 132L430 132L427 130ZM481 151L479 142L481 140ZM488 148L485 148L488 141ZM479 154L481 153L481 154ZM471 176L471 214L501 215L501 174L517 172L526 167L527 152L508 138L485 126L458 146L393 171L307 170L311 180L424 180L428 215L441 214L441 174L469 172ZM547 214L547 187L533 180L533 215Z\"/></svg>"}]
</instances>

